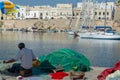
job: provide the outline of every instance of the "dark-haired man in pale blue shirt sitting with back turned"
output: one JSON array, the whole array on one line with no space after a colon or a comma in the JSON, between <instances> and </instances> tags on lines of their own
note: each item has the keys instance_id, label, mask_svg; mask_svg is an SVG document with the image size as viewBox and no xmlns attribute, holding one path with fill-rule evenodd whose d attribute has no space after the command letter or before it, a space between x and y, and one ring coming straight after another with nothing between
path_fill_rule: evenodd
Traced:
<instances>
[{"instance_id":1,"label":"dark-haired man in pale blue shirt sitting with back turned","mask_svg":"<svg viewBox=\"0 0 120 80\"><path fill-rule=\"evenodd\" d=\"M21 64L13 64L12 68L8 69L10 72L15 72L16 68L20 76L31 76L32 75L32 63L37 60L33 51L31 49L25 48L24 43L19 43L18 48L20 49L19 53L8 61L3 61L3 63L12 63L20 60Z\"/></svg>"}]
</instances>

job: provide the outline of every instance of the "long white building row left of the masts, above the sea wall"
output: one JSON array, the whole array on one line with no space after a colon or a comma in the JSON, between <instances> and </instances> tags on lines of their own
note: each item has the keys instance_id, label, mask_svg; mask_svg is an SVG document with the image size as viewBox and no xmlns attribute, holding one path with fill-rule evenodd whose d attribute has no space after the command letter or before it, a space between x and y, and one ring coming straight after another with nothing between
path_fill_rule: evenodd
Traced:
<instances>
[{"instance_id":1,"label":"long white building row left of the masts, above the sea wall","mask_svg":"<svg viewBox=\"0 0 120 80\"><path fill-rule=\"evenodd\" d=\"M72 4L57 4L50 6L21 6L16 13L16 19L54 19L72 16Z\"/></svg>"}]
</instances>

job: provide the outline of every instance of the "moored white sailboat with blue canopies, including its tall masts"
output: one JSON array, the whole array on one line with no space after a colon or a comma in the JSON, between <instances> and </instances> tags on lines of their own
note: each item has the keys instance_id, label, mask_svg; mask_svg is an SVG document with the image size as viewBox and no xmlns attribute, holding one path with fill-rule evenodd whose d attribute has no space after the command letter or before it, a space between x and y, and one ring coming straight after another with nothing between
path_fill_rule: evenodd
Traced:
<instances>
[{"instance_id":1,"label":"moored white sailboat with blue canopies, including its tall masts","mask_svg":"<svg viewBox=\"0 0 120 80\"><path fill-rule=\"evenodd\" d=\"M85 2L84 2L84 5L86 6L89 6L88 5L88 2L86 2L86 1L89 1L89 0L84 0ZM87 4L86 4L87 3ZM106 6L107 6L107 0L106 0ZM105 6L105 13L106 13L106 6ZM89 7L87 8L84 8L84 9L86 9L87 11L85 11L84 12L84 18L83 18L83 20L84 20L84 22L87 22L87 21L85 21L85 20L87 20L87 19L90 19L89 18ZM86 15L87 14L87 15ZM88 20L89 21L89 20ZM84 25L83 26L85 26L86 24L84 23ZM90 24L89 25L87 25L87 26L90 26ZM87 27L86 26L86 27ZM104 23L104 26L102 26L102 27L100 27L100 28L102 28L103 30L101 31L101 30L96 30L96 28L98 28L97 26L94 26L94 28L93 28L93 30L87 30L86 32L83 32L83 31L81 31L81 32L79 32L79 33L77 33L77 35L79 35L79 37L80 38L82 38L82 39L103 39L103 40L120 40L120 35L118 35L117 33L116 33L116 31L115 30L112 30L112 28L110 28L110 29L107 29L107 28L109 28L108 26L106 26L106 16L105 16L105 23ZM99 28L99 29L100 29ZM75 34L76 35L76 34Z\"/></svg>"}]
</instances>

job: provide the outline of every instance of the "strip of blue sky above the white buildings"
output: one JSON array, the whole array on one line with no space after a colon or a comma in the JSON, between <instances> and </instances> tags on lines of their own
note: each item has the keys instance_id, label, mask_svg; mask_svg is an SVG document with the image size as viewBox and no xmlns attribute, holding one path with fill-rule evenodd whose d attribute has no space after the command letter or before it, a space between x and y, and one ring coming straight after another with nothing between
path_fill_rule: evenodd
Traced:
<instances>
[{"instance_id":1,"label":"strip of blue sky above the white buildings","mask_svg":"<svg viewBox=\"0 0 120 80\"><path fill-rule=\"evenodd\" d=\"M55 7L56 4L61 4L61 3L65 3L65 4L73 4L74 6L77 5L77 2L81 2L82 0L10 0L12 1L14 4L18 4L18 5L22 5L22 6L43 6L43 5L50 5ZM96 0L98 2L103 2L105 0ZM107 1L112 1L115 2L116 0L107 0Z\"/></svg>"}]
</instances>

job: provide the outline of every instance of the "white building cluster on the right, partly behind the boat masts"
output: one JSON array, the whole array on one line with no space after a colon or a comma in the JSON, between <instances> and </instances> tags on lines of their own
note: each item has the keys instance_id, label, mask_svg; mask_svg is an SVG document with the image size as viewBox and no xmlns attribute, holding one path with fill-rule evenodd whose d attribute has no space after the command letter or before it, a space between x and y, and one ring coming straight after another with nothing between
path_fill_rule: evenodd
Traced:
<instances>
[{"instance_id":1,"label":"white building cluster on the right, partly behind the boat masts","mask_svg":"<svg viewBox=\"0 0 120 80\"><path fill-rule=\"evenodd\" d=\"M89 13L91 19L94 18L96 20L100 20L100 19L105 19L106 17L106 19L112 20L114 15L115 3L114 2L107 2L107 3L78 2L77 8L80 9L81 11L80 14L83 14L85 9L88 9L87 13Z\"/></svg>"}]
</instances>

